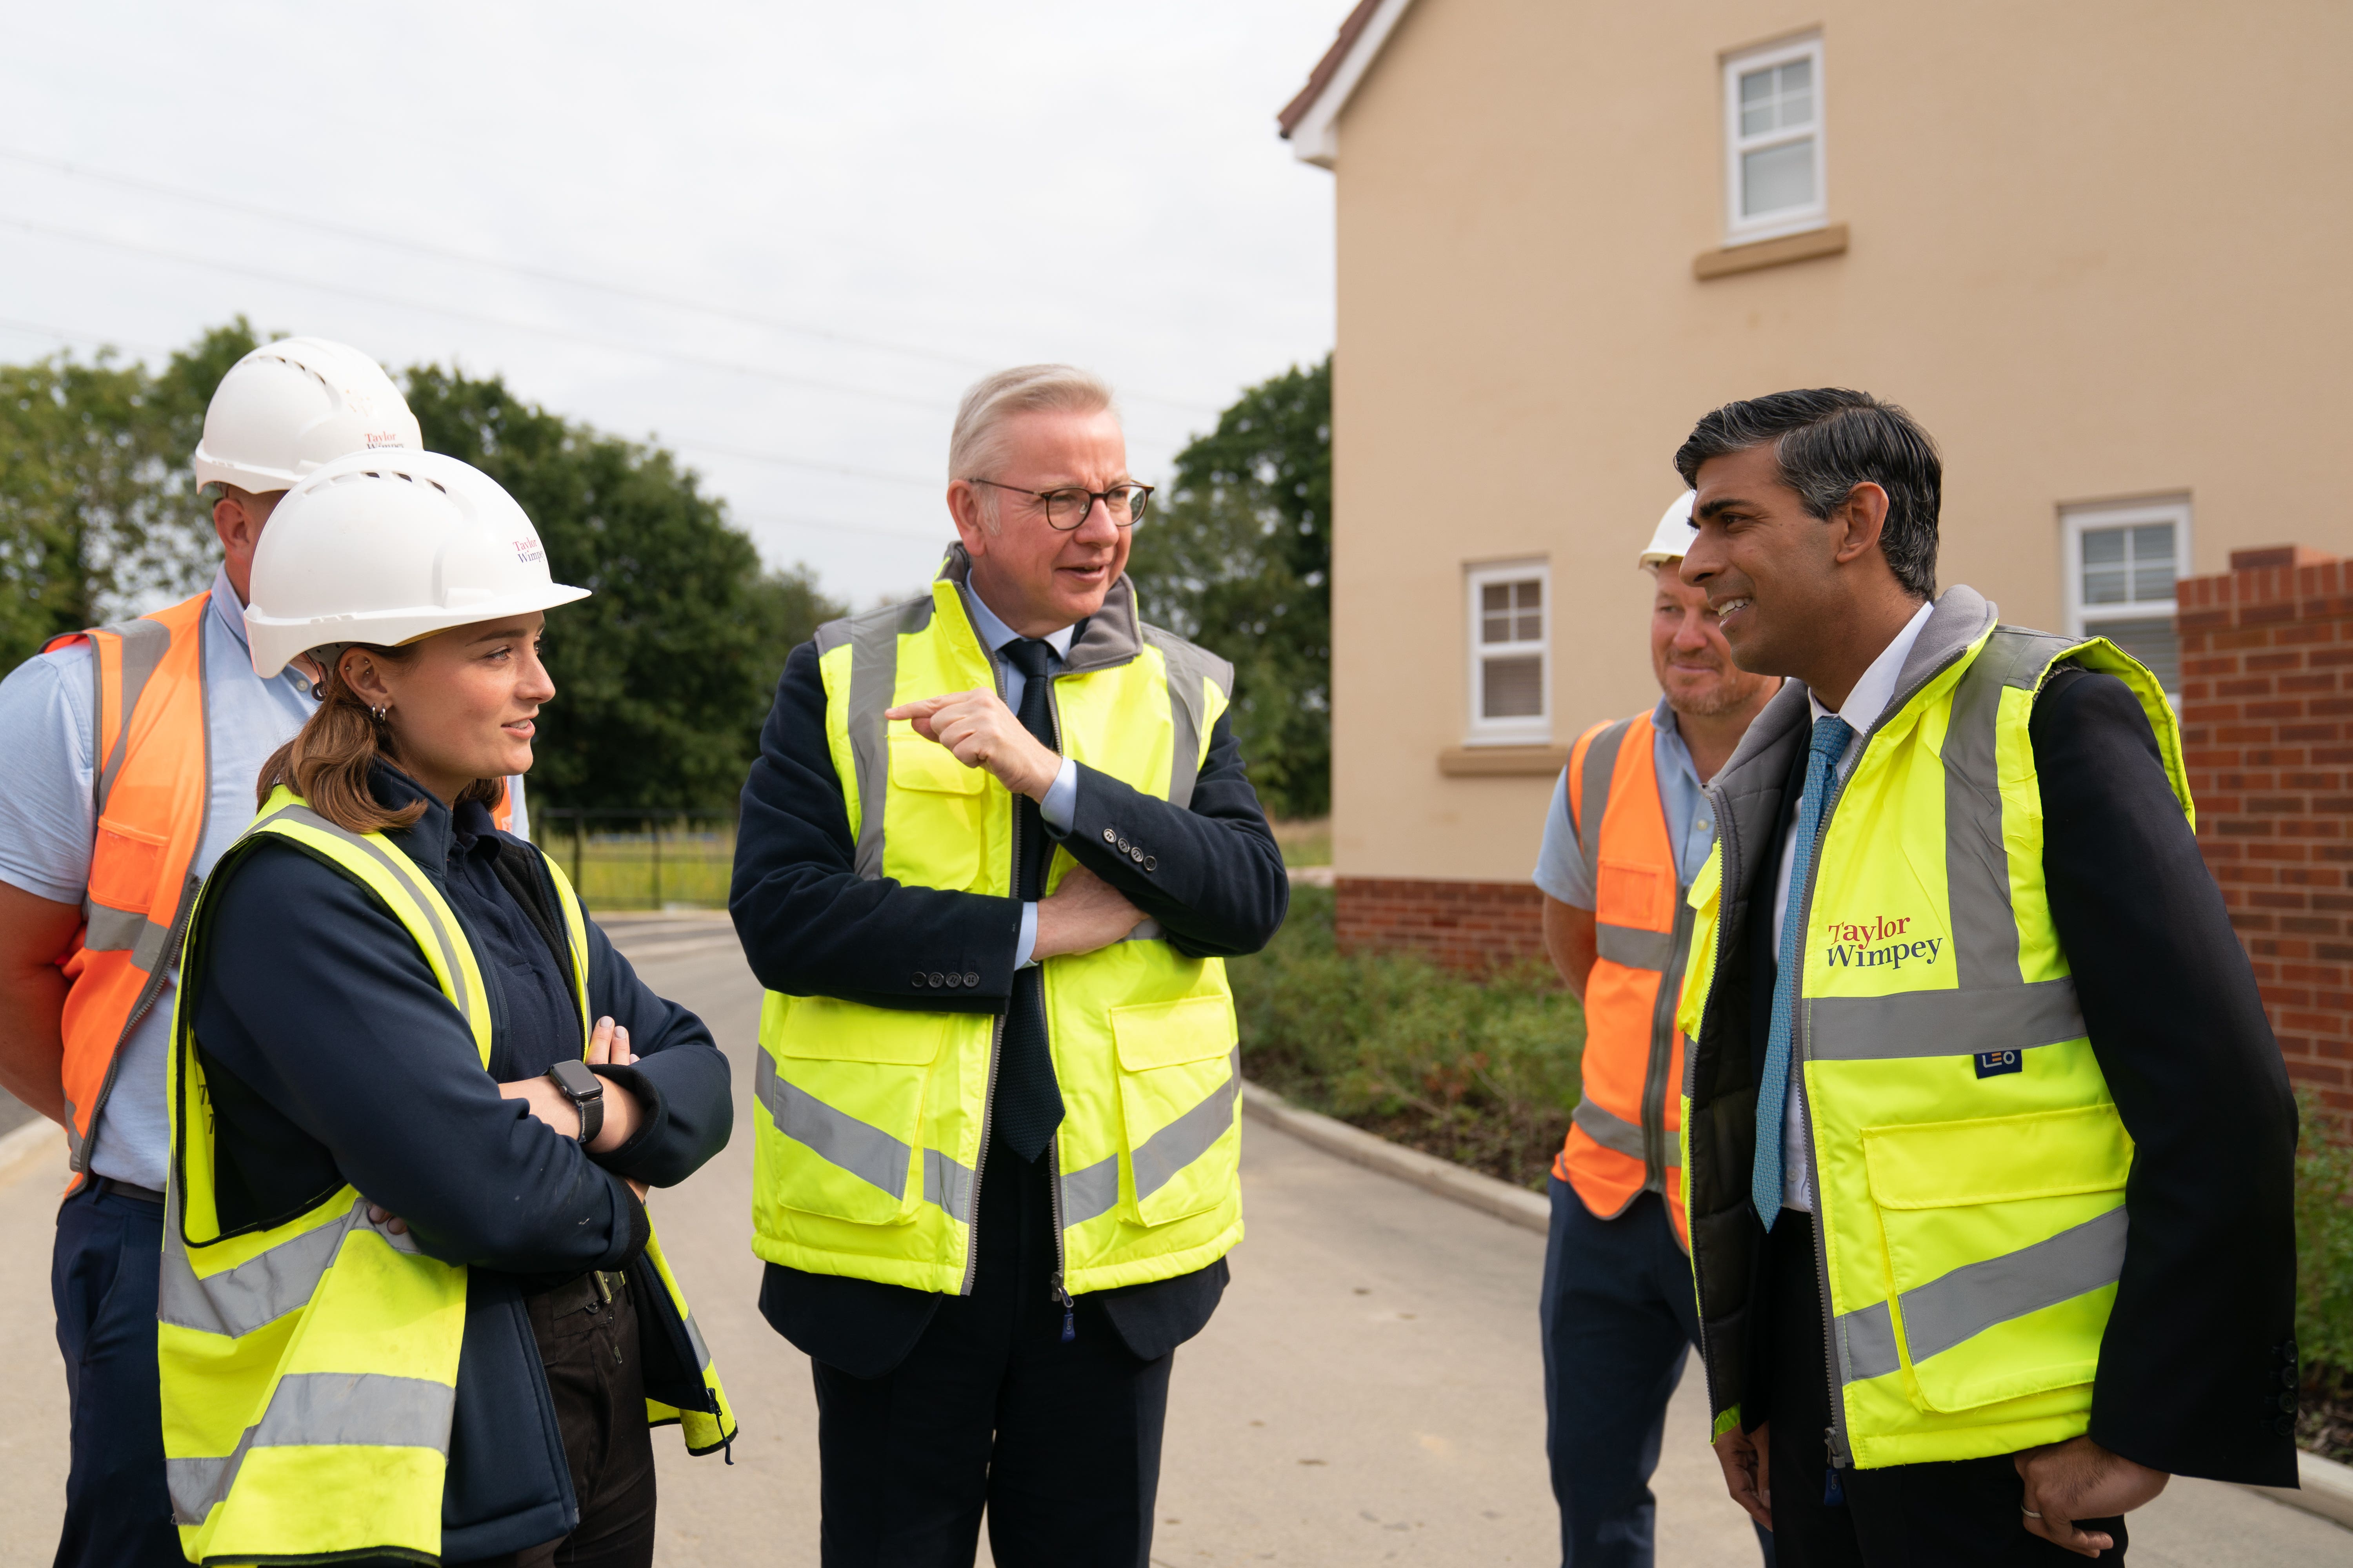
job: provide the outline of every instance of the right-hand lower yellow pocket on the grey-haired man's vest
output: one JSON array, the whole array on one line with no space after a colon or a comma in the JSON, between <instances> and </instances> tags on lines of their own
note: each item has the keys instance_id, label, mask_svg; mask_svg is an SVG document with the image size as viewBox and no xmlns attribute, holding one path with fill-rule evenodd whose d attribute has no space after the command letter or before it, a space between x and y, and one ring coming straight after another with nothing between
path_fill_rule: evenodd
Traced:
<instances>
[{"instance_id":1,"label":"right-hand lower yellow pocket on the grey-haired man's vest","mask_svg":"<svg viewBox=\"0 0 2353 1568\"><path fill-rule=\"evenodd\" d=\"M1120 1058L1120 1119L1134 1178L1134 1225L1169 1225L1217 1208L1233 1190L1242 1093L1233 999L1179 997L1111 1009Z\"/></svg>"}]
</instances>

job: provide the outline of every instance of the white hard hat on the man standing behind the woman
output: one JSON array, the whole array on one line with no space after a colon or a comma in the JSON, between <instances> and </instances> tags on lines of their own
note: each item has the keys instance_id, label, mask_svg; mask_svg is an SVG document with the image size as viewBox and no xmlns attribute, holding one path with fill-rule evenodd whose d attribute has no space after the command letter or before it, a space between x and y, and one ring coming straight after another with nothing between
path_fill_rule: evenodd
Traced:
<instances>
[{"instance_id":1,"label":"white hard hat on the man standing behind the woman","mask_svg":"<svg viewBox=\"0 0 2353 1568\"><path fill-rule=\"evenodd\" d=\"M278 339L231 364L214 388L195 482L289 489L346 451L424 444L407 400L374 360L327 339Z\"/></svg>"}]
</instances>

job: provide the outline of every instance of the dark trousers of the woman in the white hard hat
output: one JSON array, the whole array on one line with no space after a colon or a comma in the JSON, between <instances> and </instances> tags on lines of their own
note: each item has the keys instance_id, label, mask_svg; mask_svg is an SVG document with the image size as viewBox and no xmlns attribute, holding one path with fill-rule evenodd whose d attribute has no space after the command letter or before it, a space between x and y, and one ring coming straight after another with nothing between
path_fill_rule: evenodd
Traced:
<instances>
[{"instance_id":1,"label":"dark trousers of the woman in the white hard hat","mask_svg":"<svg viewBox=\"0 0 2353 1568\"><path fill-rule=\"evenodd\" d=\"M452 1568L652 1568L654 1436L638 1309L614 1288L616 1276L607 1281L600 1291L595 1274L584 1274L527 1298L581 1521L562 1540Z\"/></svg>"}]
</instances>

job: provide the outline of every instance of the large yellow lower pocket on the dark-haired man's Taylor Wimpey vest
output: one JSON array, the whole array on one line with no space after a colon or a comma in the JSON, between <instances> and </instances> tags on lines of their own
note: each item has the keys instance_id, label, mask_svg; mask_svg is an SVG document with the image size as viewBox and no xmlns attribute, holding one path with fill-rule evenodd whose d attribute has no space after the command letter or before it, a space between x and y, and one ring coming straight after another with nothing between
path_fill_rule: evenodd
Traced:
<instances>
[{"instance_id":1,"label":"large yellow lower pocket on the dark-haired man's Taylor Wimpey vest","mask_svg":"<svg viewBox=\"0 0 2353 1568\"><path fill-rule=\"evenodd\" d=\"M2125 1265L2115 1105L1864 1128L1894 1335L1925 1410L2092 1382Z\"/></svg>"}]
</instances>

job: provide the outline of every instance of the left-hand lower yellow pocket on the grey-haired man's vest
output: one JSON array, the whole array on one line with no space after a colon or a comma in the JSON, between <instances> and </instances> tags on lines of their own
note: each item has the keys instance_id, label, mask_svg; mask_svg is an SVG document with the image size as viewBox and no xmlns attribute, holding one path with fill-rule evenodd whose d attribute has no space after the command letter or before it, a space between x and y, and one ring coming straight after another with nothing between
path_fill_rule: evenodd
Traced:
<instances>
[{"instance_id":1,"label":"left-hand lower yellow pocket on the grey-haired man's vest","mask_svg":"<svg viewBox=\"0 0 2353 1568\"><path fill-rule=\"evenodd\" d=\"M769 994L753 1093L786 1140L779 1204L859 1225L915 1215L922 1095L951 1020Z\"/></svg>"}]
</instances>

